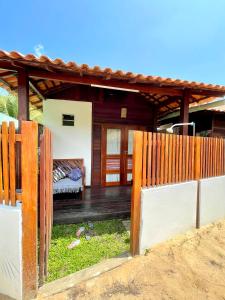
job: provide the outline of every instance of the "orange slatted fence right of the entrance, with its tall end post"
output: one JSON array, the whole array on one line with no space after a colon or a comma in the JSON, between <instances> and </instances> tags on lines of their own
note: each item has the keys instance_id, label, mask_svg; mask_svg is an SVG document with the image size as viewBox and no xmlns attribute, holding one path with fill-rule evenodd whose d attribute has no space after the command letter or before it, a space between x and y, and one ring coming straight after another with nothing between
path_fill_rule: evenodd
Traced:
<instances>
[{"instance_id":1,"label":"orange slatted fence right of the entrance, with its tall end post","mask_svg":"<svg viewBox=\"0 0 225 300\"><path fill-rule=\"evenodd\" d=\"M136 131L133 154L131 253L137 254L139 248L141 188L224 174L225 140L222 138Z\"/></svg>"}]
</instances>

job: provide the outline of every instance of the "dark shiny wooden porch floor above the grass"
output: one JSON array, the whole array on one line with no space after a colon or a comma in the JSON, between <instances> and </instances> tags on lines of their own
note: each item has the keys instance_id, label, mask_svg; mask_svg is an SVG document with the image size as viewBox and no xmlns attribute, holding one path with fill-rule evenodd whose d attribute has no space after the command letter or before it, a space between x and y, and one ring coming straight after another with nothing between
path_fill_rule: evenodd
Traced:
<instances>
[{"instance_id":1,"label":"dark shiny wooden porch floor above the grass","mask_svg":"<svg viewBox=\"0 0 225 300\"><path fill-rule=\"evenodd\" d=\"M130 217L130 203L130 186L87 188L83 200L54 200L54 224Z\"/></svg>"}]
</instances>

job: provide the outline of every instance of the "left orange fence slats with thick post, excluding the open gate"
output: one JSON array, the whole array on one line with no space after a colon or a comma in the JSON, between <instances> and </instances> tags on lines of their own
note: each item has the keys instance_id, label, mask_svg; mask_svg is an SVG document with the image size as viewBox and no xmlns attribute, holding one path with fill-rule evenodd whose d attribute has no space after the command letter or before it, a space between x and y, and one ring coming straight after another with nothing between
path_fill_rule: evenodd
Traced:
<instances>
[{"instance_id":1,"label":"left orange fence slats with thick post, excluding the open gate","mask_svg":"<svg viewBox=\"0 0 225 300\"><path fill-rule=\"evenodd\" d=\"M23 121L0 129L0 204L22 203L23 299L37 292L38 126ZM4 237L7 238L7 237Z\"/></svg>"}]
</instances>

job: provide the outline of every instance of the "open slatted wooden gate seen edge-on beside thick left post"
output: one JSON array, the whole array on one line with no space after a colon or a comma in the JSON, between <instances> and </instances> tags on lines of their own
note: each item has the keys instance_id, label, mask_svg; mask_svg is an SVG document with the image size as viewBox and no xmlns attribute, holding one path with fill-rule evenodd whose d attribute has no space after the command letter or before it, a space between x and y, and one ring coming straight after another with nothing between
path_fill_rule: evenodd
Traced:
<instances>
[{"instance_id":1,"label":"open slatted wooden gate seen edge-on beside thick left post","mask_svg":"<svg viewBox=\"0 0 225 300\"><path fill-rule=\"evenodd\" d=\"M40 137L40 246L39 246L39 284L42 285L48 272L48 255L53 223L53 191L52 191L52 134L44 128Z\"/></svg>"}]
</instances>

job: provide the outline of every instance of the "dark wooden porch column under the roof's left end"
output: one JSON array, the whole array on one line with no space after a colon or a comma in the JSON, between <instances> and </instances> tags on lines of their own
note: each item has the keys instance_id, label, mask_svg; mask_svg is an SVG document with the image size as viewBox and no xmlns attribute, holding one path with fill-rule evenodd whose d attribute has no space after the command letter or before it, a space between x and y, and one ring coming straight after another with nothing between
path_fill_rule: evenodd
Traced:
<instances>
[{"instance_id":1,"label":"dark wooden porch column under the roof's left end","mask_svg":"<svg viewBox=\"0 0 225 300\"><path fill-rule=\"evenodd\" d=\"M18 71L18 119L29 120L29 77L25 69Z\"/></svg>"}]
</instances>

